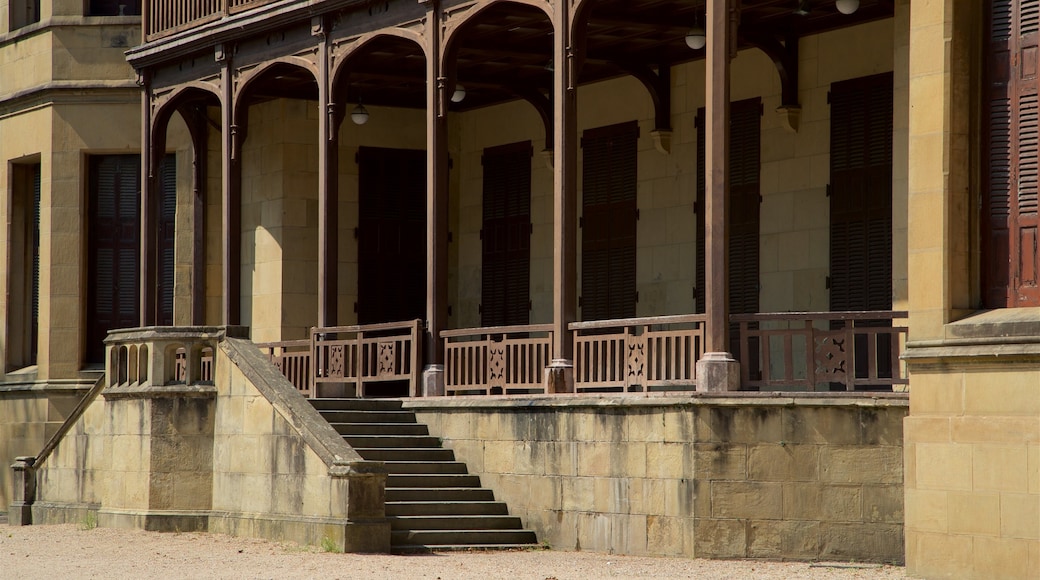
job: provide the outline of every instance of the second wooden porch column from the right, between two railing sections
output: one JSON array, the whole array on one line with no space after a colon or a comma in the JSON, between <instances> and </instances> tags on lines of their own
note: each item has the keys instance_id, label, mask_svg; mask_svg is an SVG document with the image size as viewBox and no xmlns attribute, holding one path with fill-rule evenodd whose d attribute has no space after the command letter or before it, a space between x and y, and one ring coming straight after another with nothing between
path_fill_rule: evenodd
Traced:
<instances>
[{"instance_id":1,"label":"second wooden porch column from the right, between two railing sections","mask_svg":"<svg viewBox=\"0 0 1040 580\"><path fill-rule=\"evenodd\" d=\"M574 338L577 320L577 63L571 34L571 2L553 10L552 107L552 361L546 391L574 391Z\"/></svg>"}]
</instances>

